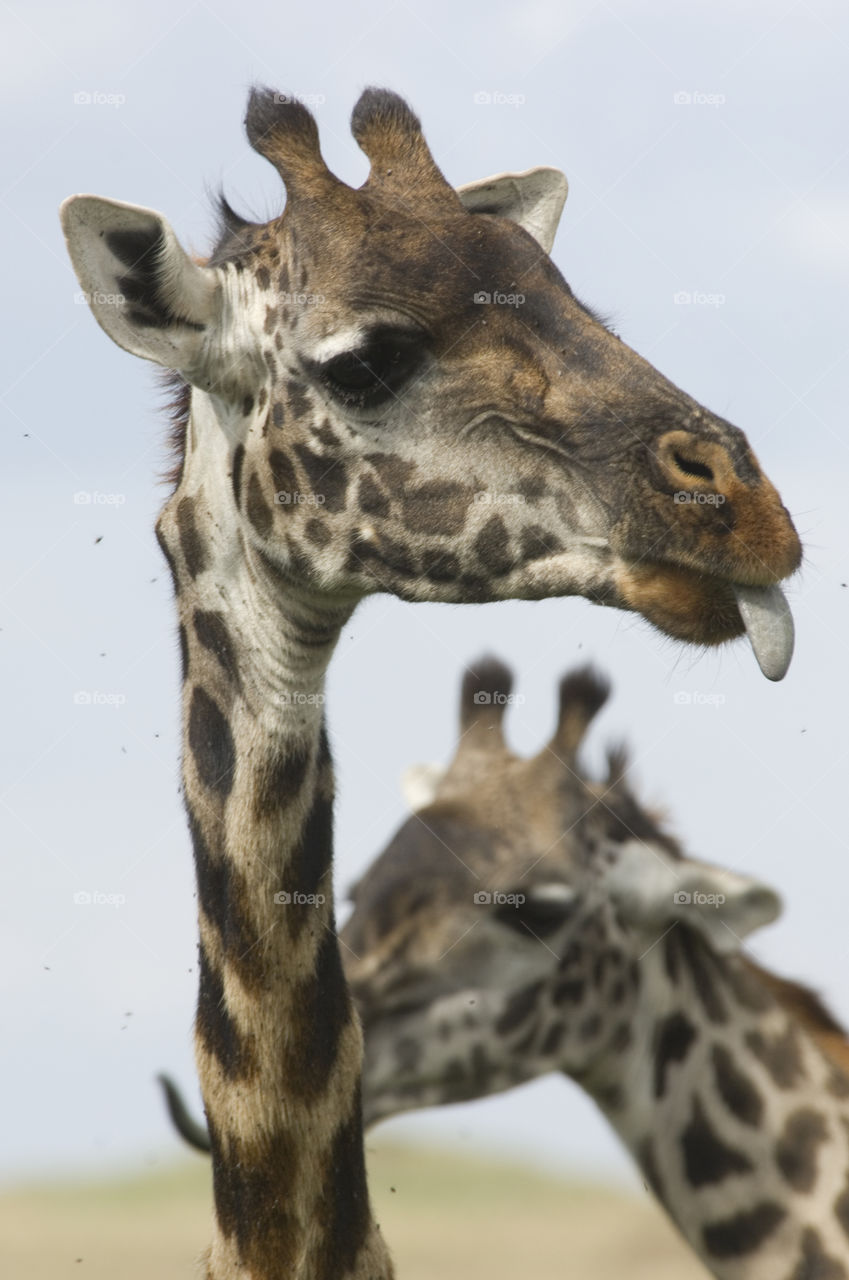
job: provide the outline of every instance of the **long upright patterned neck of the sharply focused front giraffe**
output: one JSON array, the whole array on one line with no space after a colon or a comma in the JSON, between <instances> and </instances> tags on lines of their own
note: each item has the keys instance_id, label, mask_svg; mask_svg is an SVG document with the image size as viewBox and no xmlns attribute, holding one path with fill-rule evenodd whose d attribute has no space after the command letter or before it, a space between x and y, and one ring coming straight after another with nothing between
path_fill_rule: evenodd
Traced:
<instances>
[{"instance_id":1,"label":"long upright patterned neck of the sharply focused front giraffe","mask_svg":"<svg viewBox=\"0 0 849 1280\"><path fill-rule=\"evenodd\" d=\"M206 512L227 509L220 497L178 492L159 524L184 663L196 1056L215 1201L207 1276L385 1277L364 1169L361 1032L336 936L323 718L352 605L287 582L241 535L233 554L225 521L204 527Z\"/></svg>"}]
</instances>

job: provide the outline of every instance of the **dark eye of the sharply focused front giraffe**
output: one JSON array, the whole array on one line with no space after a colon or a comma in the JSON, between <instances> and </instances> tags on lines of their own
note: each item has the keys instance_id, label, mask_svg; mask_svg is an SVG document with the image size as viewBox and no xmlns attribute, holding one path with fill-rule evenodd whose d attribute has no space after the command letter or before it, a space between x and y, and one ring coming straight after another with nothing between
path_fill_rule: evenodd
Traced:
<instances>
[{"instance_id":1,"label":"dark eye of the sharply focused front giraffe","mask_svg":"<svg viewBox=\"0 0 849 1280\"><path fill-rule=\"evenodd\" d=\"M324 361L315 371L347 408L371 408L394 399L423 357L417 334L382 332L356 349Z\"/></svg>"}]
</instances>

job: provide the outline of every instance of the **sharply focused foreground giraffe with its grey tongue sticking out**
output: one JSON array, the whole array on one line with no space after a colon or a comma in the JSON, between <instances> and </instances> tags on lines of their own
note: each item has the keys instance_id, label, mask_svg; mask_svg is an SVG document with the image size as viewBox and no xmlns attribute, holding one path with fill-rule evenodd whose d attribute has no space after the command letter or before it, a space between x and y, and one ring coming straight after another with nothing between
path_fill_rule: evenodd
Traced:
<instances>
[{"instance_id":1,"label":"sharply focused foreground giraffe with its grey tongue sticking out","mask_svg":"<svg viewBox=\"0 0 849 1280\"><path fill-rule=\"evenodd\" d=\"M213 1280L391 1274L330 876L324 673L356 604L584 595L689 643L745 631L770 678L791 649L790 517L743 433L551 262L562 174L458 195L383 90L351 127L359 189L303 104L254 90L248 142L286 207L252 224L222 202L205 262L152 210L61 210L96 320L174 375L156 531L179 618Z\"/></svg>"}]
</instances>

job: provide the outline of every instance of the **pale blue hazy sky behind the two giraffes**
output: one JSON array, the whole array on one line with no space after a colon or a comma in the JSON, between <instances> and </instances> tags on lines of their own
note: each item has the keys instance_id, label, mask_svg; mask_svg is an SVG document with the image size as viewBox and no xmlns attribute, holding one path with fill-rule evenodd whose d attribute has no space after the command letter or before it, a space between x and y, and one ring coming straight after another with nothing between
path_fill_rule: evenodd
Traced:
<instances>
[{"instance_id":1,"label":"pale blue hazy sky behind the two giraffes","mask_svg":"<svg viewBox=\"0 0 849 1280\"><path fill-rule=\"evenodd\" d=\"M781 891L785 916L753 940L756 955L849 1016L845 6L17 0L0 47L3 1175L178 1151L152 1085L163 1066L193 1079L196 937L173 611L152 536L163 424L151 369L74 300L56 206L77 191L150 205L198 251L205 189L219 182L237 207L277 211L279 180L242 136L254 81L315 99L325 155L348 182L365 175L347 118L366 83L408 96L456 183L563 168L553 256L566 278L749 434L807 545L780 686L741 644L684 652L580 600L369 602L329 686L339 887L401 819L401 769L451 751L465 660L494 649L515 664L526 701L510 732L531 750L557 676L593 657L615 682L593 759L626 736L644 792L690 850ZM684 705L679 691L725 701ZM82 906L79 891L125 901ZM393 1124L629 1176L562 1080Z\"/></svg>"}]
</instances>

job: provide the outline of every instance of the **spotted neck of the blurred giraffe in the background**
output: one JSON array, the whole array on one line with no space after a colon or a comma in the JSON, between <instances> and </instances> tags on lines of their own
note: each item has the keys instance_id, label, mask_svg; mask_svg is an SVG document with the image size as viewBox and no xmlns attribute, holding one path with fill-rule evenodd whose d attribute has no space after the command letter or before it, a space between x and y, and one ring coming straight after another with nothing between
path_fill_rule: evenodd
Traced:
<instances>
[{"instance_id":1,"label":"spotted neck of the blurred giraffe in the background","mask_svg":"<svg viewBox=\"0 0 849 1280\"><path fill-rule=\"evenodd\" d=\"M738 959L674 928L581 1083L721 1280L849 1277L849 1078Z\"/></svg>"}]
</instances>

